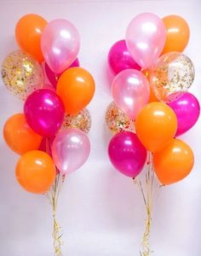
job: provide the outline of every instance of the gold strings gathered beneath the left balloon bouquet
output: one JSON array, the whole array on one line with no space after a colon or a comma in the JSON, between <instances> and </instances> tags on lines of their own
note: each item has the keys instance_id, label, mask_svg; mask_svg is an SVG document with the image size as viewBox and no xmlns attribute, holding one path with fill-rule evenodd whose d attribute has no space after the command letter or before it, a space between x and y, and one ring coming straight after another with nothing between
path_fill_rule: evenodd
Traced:
<instances>
[{"instance_id":1,"label":"gold strings gathered beneath the left balloon bouquet","mask_svg":"<svg viewBox=\"0 0 201 256\"><path fill-rule=\"evenodd\" d=\"M50 145L49 145L49 139L46 140L46 152L50 153ZM53 239L54 239L54 249L55 249L55 256L62 256L61 253L61 228L58 224L57 218L56 218L56 210L57 210L57 203L58 198L60 195L60 190L62 187L62 184L64 183L65 177L60 175L60 172L58 172L56 168L56 177L55 177L55 183L52 185L51 189L49 190L49 193L47 193L47 198L49 200L50 205L52 206L53 211Z\"/></svg>"}]
</instances>

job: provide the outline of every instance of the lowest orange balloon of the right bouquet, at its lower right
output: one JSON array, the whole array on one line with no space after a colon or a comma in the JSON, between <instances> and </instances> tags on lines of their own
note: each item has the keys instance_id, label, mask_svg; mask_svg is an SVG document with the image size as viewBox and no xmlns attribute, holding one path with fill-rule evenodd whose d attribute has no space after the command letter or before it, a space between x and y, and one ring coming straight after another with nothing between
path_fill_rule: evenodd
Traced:
<instances>
[{"instance_id":1,"label":"lowest orange balloon of the right bouquet, at its lower right","mask_svg":"<svg viewBox=\"0 0 201 256\"><path fill-rule=\"evenodd\" d=\"M165 148L153 154L153 166L164 185L176 183L192 171L192 149L178 139L172 139Z\"/></svg>"}]
</instances>

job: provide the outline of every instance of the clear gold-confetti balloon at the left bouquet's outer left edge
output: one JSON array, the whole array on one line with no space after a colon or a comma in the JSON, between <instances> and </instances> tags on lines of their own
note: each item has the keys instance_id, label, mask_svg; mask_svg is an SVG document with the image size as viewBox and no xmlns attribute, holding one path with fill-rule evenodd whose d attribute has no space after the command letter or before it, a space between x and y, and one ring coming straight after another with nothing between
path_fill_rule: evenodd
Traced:
<instances>
[{"instance_id":1,"label":"clear gold-confetti balloon at the left bouquet's outer left edge","mask_svg":"<svg viewBox=\"0 0 201 256\"><path fill-rule=\"evenodd\" d=\"M25 100L26 97L43 86L43 69L31 56L17 50L11 52L3 61L3 83Z\"/></svg>"}]
</instances>

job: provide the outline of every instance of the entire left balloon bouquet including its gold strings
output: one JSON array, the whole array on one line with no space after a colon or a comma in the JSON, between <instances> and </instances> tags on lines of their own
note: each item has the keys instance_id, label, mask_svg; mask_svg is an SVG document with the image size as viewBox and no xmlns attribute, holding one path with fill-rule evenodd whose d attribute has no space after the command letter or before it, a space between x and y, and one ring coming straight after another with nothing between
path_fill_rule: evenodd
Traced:
<instances>
[{"instance_id":1,"label":"entire left balloon bouquet including its gold strings","mask_svg":"<svg viewBox=\"0 0 201 256\"><path fill-rule=\"evenodd\" d=\"M55 217L58 195L66 175L89 157L90 114L85 107L94 95L95 81L78 67L80 38L70 21L25 15L15 27L15 37L20 50L5 58L2 77L6 87L25 100L24 113L6 121L3 136L20 154L15 172L20 185L49 198L55 255L61 255ZM43 61L51 84L44 82Z\"/></svg>"}]
</instances>

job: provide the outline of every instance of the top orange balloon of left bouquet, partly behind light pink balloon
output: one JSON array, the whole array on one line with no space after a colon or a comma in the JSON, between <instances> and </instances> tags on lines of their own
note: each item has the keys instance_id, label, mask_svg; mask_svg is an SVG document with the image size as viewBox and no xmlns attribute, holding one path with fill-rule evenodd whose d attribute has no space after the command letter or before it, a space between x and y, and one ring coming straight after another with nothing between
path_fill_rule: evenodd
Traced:
<instances>
[{"instance_id":1,"label":"top orange balloon of left bouquet, partly behind light pink balloon","mask_svg":"<svg viewBox=\"0 0 201 256\"><path fill-rule=\"evenodd\" d=\"M38 62L44 60L41 51L41 34L48 22L39 15L25 15L15 27L15 38L20 49L32 55Z\"/></svg>"}]
</instances>

